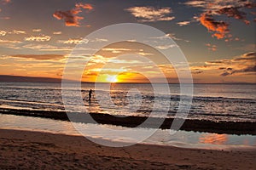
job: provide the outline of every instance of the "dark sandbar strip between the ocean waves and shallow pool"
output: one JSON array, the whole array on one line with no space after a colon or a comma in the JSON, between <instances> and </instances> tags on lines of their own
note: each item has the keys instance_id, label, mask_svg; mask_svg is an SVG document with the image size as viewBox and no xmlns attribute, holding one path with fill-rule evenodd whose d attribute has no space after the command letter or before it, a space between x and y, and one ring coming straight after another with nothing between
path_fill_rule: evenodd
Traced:
<instances>
[{"instance_id":1,"label":"dark sandbar strip between the ocean waves and shallow pool","mask_svg":"<svg viewBox=\"0 0 256 170\"><path fill-rule=\"evenodd\" d=\"M34 116L42 118L50 118L61 121L72 122L84 122L84 123L95 123L88 119L88 116L84 114L69 114L64 111L30 111L30 110L15 110L15 109L4 109L0 111L0 114L17 115L17 116ZM110 124L122 127L137 127L143 123L148 117L146 116L126 116L118 117L111 116L108 114L90 113L93 119L101 124ZM160 128L170 129L173 118L151 118L151 121L144 124L142 127L153 127L158 128L158 122L163 122ZM183 121L183 119L177 119L177 121ZM174 127L175 128L175 127ZM226 133L226 134L250 134L256 135L256 122L211 122L207 120L191 120L187 119L180 127L184 131L194 131L201 133Z\"/></svg>"}]
</instances>

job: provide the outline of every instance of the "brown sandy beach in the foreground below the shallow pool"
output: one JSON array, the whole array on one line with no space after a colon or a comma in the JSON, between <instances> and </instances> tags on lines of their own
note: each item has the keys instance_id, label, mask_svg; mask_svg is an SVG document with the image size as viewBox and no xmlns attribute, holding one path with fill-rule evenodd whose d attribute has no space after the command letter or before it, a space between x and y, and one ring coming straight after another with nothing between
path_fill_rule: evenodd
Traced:
<instances>
[{"instance_id":1,"label":"brown sandy beach in the foreground below the shallow pool","mask_svg":"<svg viewBox=\"0 0 256 170\"><path fill-rule=\"evenodd\" d=\"M79 136L0 129L0 169L256 169L255 160L255 150L110 148Z\"/></svg>"}]
</instances>

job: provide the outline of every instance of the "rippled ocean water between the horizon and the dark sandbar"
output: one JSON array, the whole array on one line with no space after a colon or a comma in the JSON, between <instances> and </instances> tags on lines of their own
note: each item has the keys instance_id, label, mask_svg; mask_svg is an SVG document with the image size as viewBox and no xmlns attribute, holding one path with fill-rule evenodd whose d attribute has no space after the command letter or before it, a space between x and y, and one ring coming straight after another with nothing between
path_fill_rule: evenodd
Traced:
<instances>
[{"instance_id":1,"label":"rippled ocean water between the horizon and the dark sandbar","mask_svg":"<svg viewBox=\"0 0 256 170\"><path fill-rule=\"evenodd\" d=\"M155 84L154 86L164 86ZM179 84L169 84L170 93L154 93L151 84L115 83L110 88L97 88L91 102L88 92L92 83L83 83L81 95L84 105L78 105L70 86L69 108L115 116L176 115L179 105ZM61 83L54 82L0 82L0 111L4 109L65 111L61 97ZM154 105L158 100L160 105ZM112 105L109 105L111 102ZM255 84L195 84L188 119L227 122L256 122Z\"/></svg>"}]
</instances>

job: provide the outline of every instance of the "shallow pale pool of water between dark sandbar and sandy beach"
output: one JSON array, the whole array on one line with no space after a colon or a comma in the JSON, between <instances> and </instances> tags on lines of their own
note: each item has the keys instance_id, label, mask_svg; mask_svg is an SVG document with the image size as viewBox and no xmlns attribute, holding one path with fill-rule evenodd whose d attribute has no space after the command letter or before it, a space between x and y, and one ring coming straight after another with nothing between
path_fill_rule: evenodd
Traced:
<instances>
[{"instance_id":1,"label":"shallow pale pool of water between dark sandbar and sandy beach","mask_svg":"<svg viewBox=\"0 0 256 170\"><path fill-rule=\"evenodd\" d=\"M113 142L133 142L136 139L122 139L118 134L109 134L97 131L97 126L125 130L127 127L117 127L113 125L96 125L75 123L76 127L82 129L85 136L94 139L106 139ZM0 114L0 128L29 130L48 133L63 133L67 135L81 135L71 122L56 121L30 116L14 116ZM148 128L134 128L137 133L147 133ZM230 150L230 149L256 149L256 136L252 135L230 135L217 133L195 133L178 131L174 135L170 130L158 130L153 136L143 141L143 144L160 144L172 145L185 148L204 148L213 150Z\"/></svg>"}]
</instances>

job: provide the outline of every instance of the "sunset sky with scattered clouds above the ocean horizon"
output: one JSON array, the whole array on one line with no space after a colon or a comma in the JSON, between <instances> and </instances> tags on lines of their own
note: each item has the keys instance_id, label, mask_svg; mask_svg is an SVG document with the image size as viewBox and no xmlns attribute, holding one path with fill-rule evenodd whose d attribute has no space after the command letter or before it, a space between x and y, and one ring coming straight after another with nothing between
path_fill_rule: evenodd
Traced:
<instances>
[{"instance_id":1,"label":"sunset sky with scattered clouds above the ocean horizon","mask_svg":"<svg viewBox=\"0 0 256 170\"><path fill-rule=\"evenodd\" d=\"M256 83L255 8L251 0L0 0L0 75L61 78L73 49L88 45L84 37L138 23L177 45L109 44L80 58L88 61L84 82L178 82L159 50L180 48L195 83Z\"/></svg>"}]
</instances>

